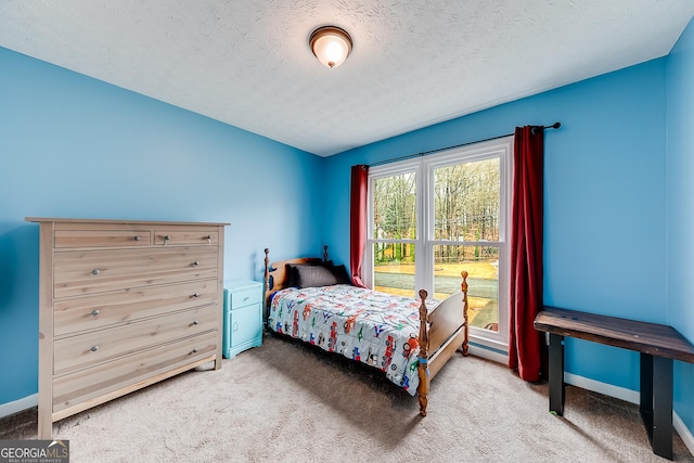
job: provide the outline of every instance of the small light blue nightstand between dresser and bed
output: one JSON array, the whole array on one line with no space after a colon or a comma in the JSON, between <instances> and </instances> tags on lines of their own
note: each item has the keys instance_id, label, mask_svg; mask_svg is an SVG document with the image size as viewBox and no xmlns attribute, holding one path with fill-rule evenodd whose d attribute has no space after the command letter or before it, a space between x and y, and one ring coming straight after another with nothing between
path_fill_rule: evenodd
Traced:
<instances>
[{"instance_id":1,"label":"small light blue nightstand between dresser and bed","mask_svg":"<svg viewBox=\"0 0 694 463\"><path fill-rule=\"evenodd\" d=\"M224 333L227 359L262 344L262 284L250 280L224 282Z\"/></svg>"}]
</instances>

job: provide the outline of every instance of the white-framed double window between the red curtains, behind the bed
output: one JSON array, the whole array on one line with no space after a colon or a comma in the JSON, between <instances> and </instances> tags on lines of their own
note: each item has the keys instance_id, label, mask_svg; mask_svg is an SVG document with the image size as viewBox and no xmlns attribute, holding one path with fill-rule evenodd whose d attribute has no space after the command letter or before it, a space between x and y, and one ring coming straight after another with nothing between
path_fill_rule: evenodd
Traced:
<instances>
[{"instance_id":1,"label":"white-framed double window between the red curtains, behind the bed","mask_svg":"<svg viewBox=\"0 0 694 463\"><path fill-rule=\"evenodd\" d=\"M378 291L442 299L467 271L471 340L504 351L512 150L506 137L372 167L363 275Z\"/></svg>"}]
</instances>

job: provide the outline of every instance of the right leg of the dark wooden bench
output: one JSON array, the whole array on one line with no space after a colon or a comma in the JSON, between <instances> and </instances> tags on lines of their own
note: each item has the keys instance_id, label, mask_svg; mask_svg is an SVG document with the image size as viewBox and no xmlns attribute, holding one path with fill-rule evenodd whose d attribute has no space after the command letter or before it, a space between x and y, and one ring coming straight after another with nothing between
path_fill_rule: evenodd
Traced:
<instances>
[{"instance_id":1,"label":"right leg of the dark wooden bench","mask_svg":"<svg viewBox=\"0 0 694 463\"><path fill-rule=\"evenodd\" d=\"M672 359L641 352L641 417L653 453L672 460Z\"/></svg>"}]
</instances>

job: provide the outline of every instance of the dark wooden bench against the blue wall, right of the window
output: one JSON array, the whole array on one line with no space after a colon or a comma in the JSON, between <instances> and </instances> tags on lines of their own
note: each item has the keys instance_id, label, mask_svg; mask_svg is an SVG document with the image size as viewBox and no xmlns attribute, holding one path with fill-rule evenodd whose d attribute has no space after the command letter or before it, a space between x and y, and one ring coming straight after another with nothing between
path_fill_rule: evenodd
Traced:
<instances>
[{"instance_id":1,"label":"dark wooden bench against the blue wall, right of the window","mask_svg":"<svg viewBox=\"0 0 694 463\"><path fill-rule=\"evenodd\" d=\"M694 346L672 326L544 307L535 329L550 334L550 412L564 413L564 336L641 352L640 412L653 452L672 460L672 360L694 363Z\"/></svg>"}]
</instances>

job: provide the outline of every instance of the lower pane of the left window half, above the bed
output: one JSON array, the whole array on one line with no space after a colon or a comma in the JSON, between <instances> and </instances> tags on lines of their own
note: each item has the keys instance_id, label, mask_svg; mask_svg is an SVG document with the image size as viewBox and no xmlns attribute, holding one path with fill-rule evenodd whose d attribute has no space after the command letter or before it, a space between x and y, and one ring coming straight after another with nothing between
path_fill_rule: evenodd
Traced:
<instances>
[{"instance_id":1,"label":"lower pane of the left window half, above the bed","mask_svg":"<svg viewBox=\"0 0 694 463\"><path fill-rule=\"evenodd\" d=\"M374 243L373 263L374 290L414 295L413 243Z\"/></svg>"}]
</instances>

